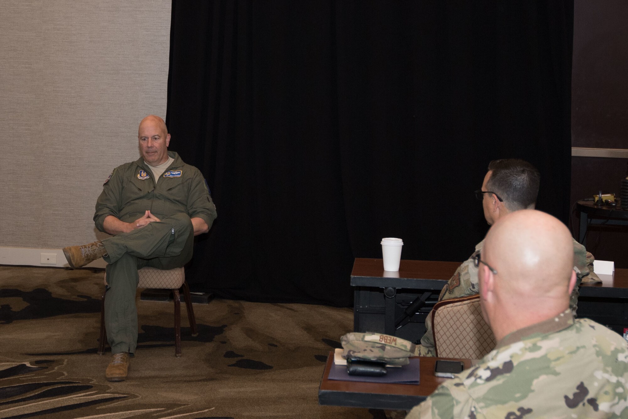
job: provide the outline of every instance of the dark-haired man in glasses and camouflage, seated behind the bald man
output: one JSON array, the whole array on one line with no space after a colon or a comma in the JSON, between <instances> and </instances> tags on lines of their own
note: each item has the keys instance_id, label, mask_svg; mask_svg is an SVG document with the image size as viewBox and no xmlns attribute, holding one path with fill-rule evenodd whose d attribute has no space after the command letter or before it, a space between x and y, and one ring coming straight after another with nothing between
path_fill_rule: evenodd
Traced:
<instances>
[{"instance_id":1,"label":"dark-haired man in glasses and camouflage, seated behind the bald man","mask_svg":"<svg viewBox=\"0 0 628 419\"><path fill-rule=\"evenodd\" d=\"M524 160L509 158L493 160L482 182L482 189L475 191L477 199L482 201L484 217L492 226L504 215L522 209L534 209L539 192L539 171ZM477 268L474 266L475 254L482 250L484 241L475 246L473 253L456 269L445 288L441 290L438 301L450 298L467 297L479 292ZM593 273L593 255L582 244L572 240L573 269L577 273L577 283L571 293L570 307L575 314L578 307L578 286L585 281L600 281ZM416 346L419 356L435 356L434 338L431 329L431 314L425 320L426 332L421 344Z\"/></svg>"}]
</instances>

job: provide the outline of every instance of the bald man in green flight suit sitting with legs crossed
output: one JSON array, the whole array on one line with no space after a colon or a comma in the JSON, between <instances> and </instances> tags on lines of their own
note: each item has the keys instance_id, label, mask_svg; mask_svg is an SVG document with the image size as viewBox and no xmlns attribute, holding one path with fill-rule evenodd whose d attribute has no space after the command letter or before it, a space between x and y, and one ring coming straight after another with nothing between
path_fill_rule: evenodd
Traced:
<instances>
[{"instance_id":1,"label":"bald man in green flight suit sitting with legs crossed","mask_svg":"<svg viewBox=\"0 0 628 419\"><path fill-rule=\"evenodd\" d=\"M109 381L127 378L138 344L138 269L183 266L192 258L193 236L208 232L216 218L203 175L168 151L163 119L142 119L138 141L141 157L115 168L96 202L95 225L113 237L63 249L71 268L100 257L107 262L105 327L114 354L105 372Z\"/></svg>"}]
</instances>

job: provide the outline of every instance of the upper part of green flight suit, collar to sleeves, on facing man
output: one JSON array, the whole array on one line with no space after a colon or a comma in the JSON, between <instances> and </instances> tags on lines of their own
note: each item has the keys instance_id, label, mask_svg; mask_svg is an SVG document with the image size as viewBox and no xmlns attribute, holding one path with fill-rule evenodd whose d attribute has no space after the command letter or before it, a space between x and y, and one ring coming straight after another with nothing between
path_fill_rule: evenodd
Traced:
<instances>
[{"instance_id":1,"label":"upper part of green flight suit, collar to sleeves, on facing man","mask_svg":"<svg viewBox=\"0 0 628 419\"><path fill-rule=\"evenodd\" d=\"M216 207L200 170L183 163L174 151L168 156L175 159L155 184L153 172L139 158L117 166L102 185L96 201L94 222L104 231L107 215L131 222L150 210L158 218L184 213L190 218L205 220L208 227L216 218Z\"/></svg>"}]
</instances>

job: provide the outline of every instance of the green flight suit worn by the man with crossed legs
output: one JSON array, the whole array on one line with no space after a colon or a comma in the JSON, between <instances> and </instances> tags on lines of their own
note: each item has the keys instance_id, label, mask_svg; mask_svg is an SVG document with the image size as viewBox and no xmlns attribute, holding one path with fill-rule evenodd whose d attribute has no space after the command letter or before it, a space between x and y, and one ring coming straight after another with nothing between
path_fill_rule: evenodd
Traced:
<instances>
[{"instance_id":1,"label":"green flight suit worn by the man with crossed legs","mask_svg":"<svg viewBox=\"0 0 628 419\"><path fill-rule=\"evenodd\" d=\"M105 327L114 354L133 354L137 346L138 269L183 266L192 258L194 231L190 219L199 217L211 227L216 218L214 202L200 171L183 163L177 153L168 151L168 155L175 161L156 184L143 158L118 166L96 202L94 222L100 231L104 231L107 215L133 222L150 210L160 219L102 241L107 251Z\"/></svg>"}]
</instances>

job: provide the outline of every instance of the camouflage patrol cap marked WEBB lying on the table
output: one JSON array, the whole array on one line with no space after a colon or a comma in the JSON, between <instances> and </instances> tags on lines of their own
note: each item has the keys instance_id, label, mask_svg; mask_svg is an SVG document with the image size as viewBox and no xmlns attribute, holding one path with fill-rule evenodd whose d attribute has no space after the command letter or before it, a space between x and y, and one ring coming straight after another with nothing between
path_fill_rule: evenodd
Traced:
<instances>
[{"instance_id":1,"label":"camouflage patrol cap marked WEBB lying on the table","mask_svg":"<svg viewBox=\"0 0 628 419\"><path fill-rule=\"evenodd\" d=\"M386 361L391 365L408 365L415 345L399 337L382 333L347 333L340 338L342 357Z\"/></svg>"}]
</instances>

